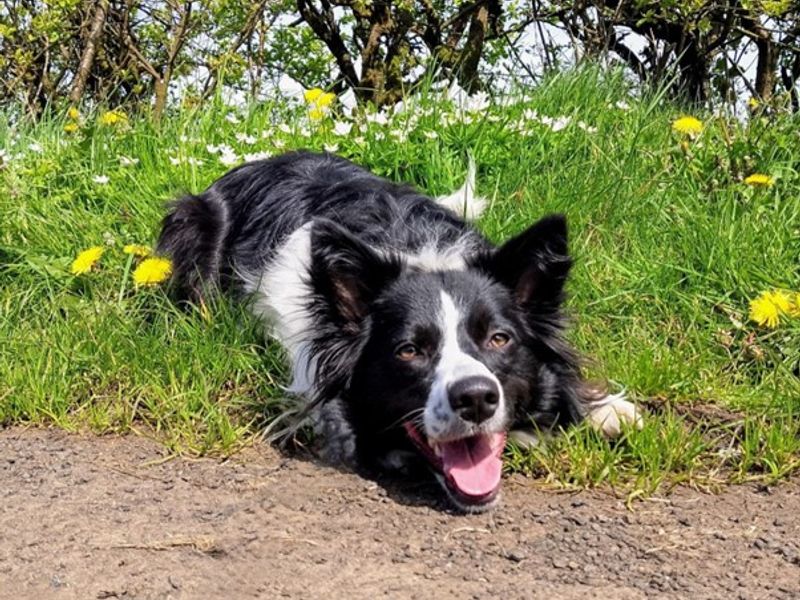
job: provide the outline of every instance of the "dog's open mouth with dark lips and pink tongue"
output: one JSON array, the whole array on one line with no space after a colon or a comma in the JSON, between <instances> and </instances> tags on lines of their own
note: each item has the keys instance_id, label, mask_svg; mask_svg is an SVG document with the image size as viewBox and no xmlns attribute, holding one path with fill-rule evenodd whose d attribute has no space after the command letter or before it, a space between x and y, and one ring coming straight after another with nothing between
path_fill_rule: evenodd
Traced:
<instances>
[{"instance_id":1,"label":"dog's open mouth with dark lips and pink tongue","mask_svg":"<svg viewBox=\"0 0 800 600\"><path fill-rule=\"evenodd\" d=\"M405 423L404 427L417 449L441 473L447 491L457 504L479 510L497 498L503 472L505 433L433 442L411 423Z\"/></svg>"}]
</instances>

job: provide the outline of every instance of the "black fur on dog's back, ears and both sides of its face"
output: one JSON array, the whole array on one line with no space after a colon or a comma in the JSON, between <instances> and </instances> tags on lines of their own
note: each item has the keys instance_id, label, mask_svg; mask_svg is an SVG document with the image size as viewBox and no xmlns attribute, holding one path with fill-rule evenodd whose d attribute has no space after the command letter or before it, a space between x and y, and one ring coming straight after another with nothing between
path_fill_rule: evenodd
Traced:
<instances>
[{"instance_id":1,"label":"black fur on dog's back, ears and both sides of its face","mask_svg":"<svg viewBox=\"0 0 800 600\"><path fill-rule=\"evenodd\" d=\"M332 155L294 152L243 165L178 201L158 250L174 261L176 290L197 301L211 286L243 289L254 273L269 273L289 236L309 223L310 264L299 275L311 321L303 338L313 358L308 400L335 405L360 462L412 449L402 423L432 393L443 344L433 313L443 293L465 319L460 352L502 386L506 429L582 417L586 391L562 337L572 264L563 216L495 249L413 188ZM456 248L464 264L429 268L409 258L425 248L444 255ZM497 331L510 336L500 349L489 341ZM417 354L399 360L403 344ZM347 453L331 454L346 460Z\"/></svg>"}]
</instances>

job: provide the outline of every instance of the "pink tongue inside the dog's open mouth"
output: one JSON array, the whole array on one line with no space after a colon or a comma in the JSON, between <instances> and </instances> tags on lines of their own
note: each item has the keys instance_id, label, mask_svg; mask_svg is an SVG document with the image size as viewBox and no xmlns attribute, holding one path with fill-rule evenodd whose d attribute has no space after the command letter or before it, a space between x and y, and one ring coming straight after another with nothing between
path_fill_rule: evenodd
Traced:
<instances>
[{"instance_id":1,"label":"pink tongue inside the dog's open mouth","mask_svg":"<svg viewBox=\"0 0 800 600\"><path fill-rule=\"evenodd\" d=\"M442 450L442 470L458 490L467 496L486 496L500 485L505 445L502 433L446 442Z\"/></svg>"}]
</instances>

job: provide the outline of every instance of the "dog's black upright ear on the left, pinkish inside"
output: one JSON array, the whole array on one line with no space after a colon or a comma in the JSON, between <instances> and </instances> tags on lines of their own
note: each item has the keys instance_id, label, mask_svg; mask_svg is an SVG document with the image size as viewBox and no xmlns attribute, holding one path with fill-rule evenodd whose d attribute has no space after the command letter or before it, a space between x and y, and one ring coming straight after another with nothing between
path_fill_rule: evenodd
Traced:
<instances>
[{"instance_id":1,"label":"dog's black upright ear on the left, pinkish inside","mask_svg":"<svg viewBox=\"0 0 800 600\"><path fill-rule=\"evenodd\" d=\"M400 274L401 263L379 255L332 221L315 220L311 228L311 284L329 318L356 326L370 302Z\"/></svg>"}]
</instances>

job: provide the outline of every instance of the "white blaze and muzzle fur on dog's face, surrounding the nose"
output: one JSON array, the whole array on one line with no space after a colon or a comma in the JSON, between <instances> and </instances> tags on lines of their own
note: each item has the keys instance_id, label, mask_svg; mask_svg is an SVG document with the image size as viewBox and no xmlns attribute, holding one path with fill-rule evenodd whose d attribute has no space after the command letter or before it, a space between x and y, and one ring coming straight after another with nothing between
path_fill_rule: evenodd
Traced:
<instances>
[{"instance_id":1,"label":"white blaze and muzzle fur on dog's face, surrounding the nose","mask_svg":"<svg viewBox=\"0 0 800 600\"><path fill-rule=\"evenodd\" d=\"M442 343L439 351L439 363L436 365L431 391L425 403L423 419L425 434L432 441L438 441L459 439L476 433L476 425L467 423L453 412L447 393L452 383L475 375L492 380L500 391L500 403L497 411L492 418L481 424L481 430L501 431L505 424L503 388L489 368L464 352L458 343L458 330L462 322L462 315L453 298L442 290L440 300L438 320Z\"/></svg>"}]
</instances>

